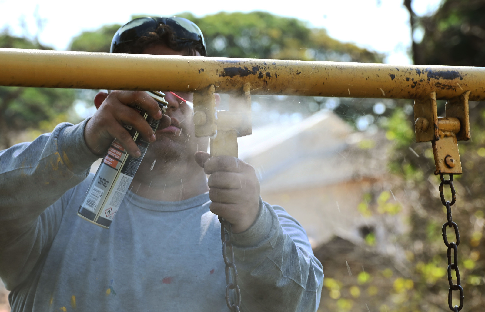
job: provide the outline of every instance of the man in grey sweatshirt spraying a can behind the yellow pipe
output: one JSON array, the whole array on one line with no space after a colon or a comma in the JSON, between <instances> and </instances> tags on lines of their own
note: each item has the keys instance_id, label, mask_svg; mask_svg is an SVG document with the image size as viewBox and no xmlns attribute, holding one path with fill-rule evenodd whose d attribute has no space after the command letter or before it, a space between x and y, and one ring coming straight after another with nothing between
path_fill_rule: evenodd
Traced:
<instances>
[{"instance_id":1,"label":"man in grey sweatshirt spraying a can behind the yellow pipe","mask_svg":"<svg viewBox=\"0 0 485 312\"><path fill-rule=\"evenodd\" d=\"M112 52L206 55L198 27L178 17L131 21ZM210 157L192 109L166 94L162 117L143 92L98 93L93 117L0 152L0 277L12 311L228 311L218 216L234 232L241 311L317 309L322 265L303 228L262 202L250 165ZM132 104L162 117L160 130ZM106 230L76 211L114 138L139 155L125 124L151 144Z\"/></svg>"}]
</instances>

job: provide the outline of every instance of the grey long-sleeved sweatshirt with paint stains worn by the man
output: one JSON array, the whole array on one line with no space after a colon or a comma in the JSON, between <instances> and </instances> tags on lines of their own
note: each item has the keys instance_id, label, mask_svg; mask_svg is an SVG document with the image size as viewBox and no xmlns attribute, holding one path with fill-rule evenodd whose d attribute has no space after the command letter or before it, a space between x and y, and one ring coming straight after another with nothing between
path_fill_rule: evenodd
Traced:
<instances>
[{"instance_id":1,"label":"grey long-sleeved sweatshirt with paint stains worn by the man","mask_svg":"<svg viewBox=\"0 0 485 312\"><path fill-rule=\"evenodd\" d=\"M209 194L128 192L110 229L77 216L97 159L86 121L0 152L0 278L12 311L228 311ZM242 311L315 311L323 270L301 225L260 200L234 234Z\"/></svg>"}]
</instances>

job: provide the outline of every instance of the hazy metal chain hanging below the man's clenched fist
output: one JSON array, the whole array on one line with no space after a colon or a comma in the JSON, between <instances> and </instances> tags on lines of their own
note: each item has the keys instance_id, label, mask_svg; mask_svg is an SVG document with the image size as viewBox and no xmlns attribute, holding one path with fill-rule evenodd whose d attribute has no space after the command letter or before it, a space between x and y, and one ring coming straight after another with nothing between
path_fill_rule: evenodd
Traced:
<instances>
[{"instance_id":1,"label":"hazy metal chain hanging below the man's clenched fist","mask_svg":"<svg viewBox=\"0 0 485 312\"><path fill-rule=\"evenodd\" d=\"M219 222L221 222L222 256L226 264L226 304L232 312L240 312L241 290L238 286L238 271L234 262L232 226L221 217L219 217ZM230 296L231 293L232 296Z\"/></svg>"}]
</instances>

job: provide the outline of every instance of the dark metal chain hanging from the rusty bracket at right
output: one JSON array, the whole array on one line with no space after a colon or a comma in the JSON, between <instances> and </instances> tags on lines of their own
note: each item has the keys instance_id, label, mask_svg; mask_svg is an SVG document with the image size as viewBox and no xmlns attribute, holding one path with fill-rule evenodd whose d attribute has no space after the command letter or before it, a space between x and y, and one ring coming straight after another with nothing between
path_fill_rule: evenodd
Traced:
<instances>
[{"instance_id":1,"label":"dark metal chain hanging from the rusty bracket at right","mask_svg":"<svg viewBox=\"0 0 485 312\"><path fill-rule=\"evenodd\" d=\"M453 204L456 202L456 192L453 186L453 174L450 174L450 179L445 180L443 177L443 174L439 174L439 178L441 179L441 184L439 185L439 196L441 198L441 203L446 207L446 219L447 221L445 224L443 224L442 227L442 232L443 232L443 240L445 242L446 247L448 247L448 283L450 284L450 289L448 290L448 307L450 308L451 311L453 312L458 312L463 308L463 287L461 287L461 281L460 281L460 270L458 269L458 245L460 245L460 233L458 232L458 225L456 225L455 222L453 222L452 218L452 208ZM446 201L445 200L445 195L443 194L443 186L444 185L449 185L450 189L452 191L452 201ZM453 227L455 237L456 237L456 242L448 242L448 237L446 235L446 228ZM452 250L453 250L453 262L452 262ZM452 279L452 270L455 271L456 273L456 284L453 284L453 279ZM452 305L452 295L453 291L458 290L460 292L460 305L459 306L454 306Z\"/></svg>"}]
</instances>

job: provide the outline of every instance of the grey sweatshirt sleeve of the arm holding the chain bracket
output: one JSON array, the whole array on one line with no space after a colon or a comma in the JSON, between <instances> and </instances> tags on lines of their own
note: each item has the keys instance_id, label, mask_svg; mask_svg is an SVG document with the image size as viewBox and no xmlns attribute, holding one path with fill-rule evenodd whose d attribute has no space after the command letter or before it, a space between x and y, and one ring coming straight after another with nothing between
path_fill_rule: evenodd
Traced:
<instances>
[{"instance_id":1,"label":"grey sweatshirt sleeve of the arm holding the chain bracket","mask_svg":"<svg viewBox=\"0 0 485 312\"><path fill-rule=\"evenodd\" d=\"M255 223L234 234L241 311L317 311L323 267L305 230L282 207L259 205Z\"/></svg>"}]
</instances>

